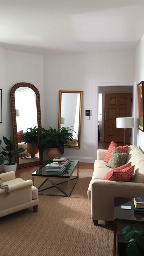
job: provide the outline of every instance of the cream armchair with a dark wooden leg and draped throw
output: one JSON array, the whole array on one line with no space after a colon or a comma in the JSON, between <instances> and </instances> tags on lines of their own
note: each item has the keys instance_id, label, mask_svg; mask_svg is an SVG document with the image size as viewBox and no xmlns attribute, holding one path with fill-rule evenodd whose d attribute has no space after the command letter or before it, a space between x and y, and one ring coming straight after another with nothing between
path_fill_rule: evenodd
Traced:
<instances>
[{"instance_id":1,"label":"cream armchair with a dark wooden leg and draped throw","mask_svg":"<svg viewBox=\"0 0 144 256\"><path fill-rule=\"evenodd\" d=\"M33 206L34 212L38 208L38 189L32 180L15 177L15 172L0 174L3 185L8 185L10 196L5 195L5 188L0 188L0 217Z\"/></svg>"}]
</instances>

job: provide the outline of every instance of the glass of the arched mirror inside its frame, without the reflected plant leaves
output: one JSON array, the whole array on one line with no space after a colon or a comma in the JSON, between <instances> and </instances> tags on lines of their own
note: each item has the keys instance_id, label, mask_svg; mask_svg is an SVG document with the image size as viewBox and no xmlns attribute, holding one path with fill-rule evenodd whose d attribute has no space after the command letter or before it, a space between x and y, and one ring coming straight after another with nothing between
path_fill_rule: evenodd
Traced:
<instances>
[{"instance_id":1,"label":"glass of the arched mirror inside its frame, without the reflected plant leaves","mask_svg":"<svg viewBox=\"0 0 144 256\"><path fill-rule=\"evenodd\" d=\"M34 147L29 150L31 140L27 143L27 140L21 139L21 135L29 131L28 128L37 127L36 94L31 88L20 87L15 91L15 109L18 148L25 149L19 154L19 164L37 161L39 159L38 147L37 150Z\"/></svg>"}]
</instances>

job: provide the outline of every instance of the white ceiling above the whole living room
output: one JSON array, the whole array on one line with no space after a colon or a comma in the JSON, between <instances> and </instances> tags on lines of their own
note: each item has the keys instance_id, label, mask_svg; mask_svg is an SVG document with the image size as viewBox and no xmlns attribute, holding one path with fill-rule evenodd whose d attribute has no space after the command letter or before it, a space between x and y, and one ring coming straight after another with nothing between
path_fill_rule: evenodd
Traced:
<instances>
[{"instance_id":1,"label":"white ceiling above the whole living room","mask_svg":"<svg viewBox=\"0 0 144 256\"><path fill-rule=\"evenodd\" d=\"M136 49L144 0L0 0L0 46L40 55Z\"/></svg>"}]
</instances>

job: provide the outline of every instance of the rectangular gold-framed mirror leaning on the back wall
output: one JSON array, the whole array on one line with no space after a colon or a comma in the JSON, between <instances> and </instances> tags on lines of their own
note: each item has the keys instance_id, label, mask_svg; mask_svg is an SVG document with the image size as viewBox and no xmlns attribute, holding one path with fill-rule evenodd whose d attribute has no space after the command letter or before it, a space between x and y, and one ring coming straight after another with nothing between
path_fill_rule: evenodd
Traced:
<instances>
[{"instance_id":1,"label":"rectangular gold-framed mirror leaning on the back wall","mask_svg":"<svg viewBox=\"0 0 144 256\"><path fill-rule=\"evenodd\" d=\"M75 131L69 142L72 148L80 148L82 94L83 91L59 91L58 128L70 127Z\"/></svg>"}]
</instances>

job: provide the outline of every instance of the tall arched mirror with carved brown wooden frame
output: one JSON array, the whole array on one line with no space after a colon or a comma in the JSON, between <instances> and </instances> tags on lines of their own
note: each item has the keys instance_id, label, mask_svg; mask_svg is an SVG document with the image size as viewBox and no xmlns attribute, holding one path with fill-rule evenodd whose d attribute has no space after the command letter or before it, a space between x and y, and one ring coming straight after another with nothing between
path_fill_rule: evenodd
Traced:
<instances>
[{"instance_id":1,"label":"tall arched mirror with carved brown wooden frame","mask_svg":"<svg viewBox=\"0 0 144 256\"><path fill-rule=\"evenodd\" d=\"M16 155L18 168L43 163L38 146L41 116L37 88L29 83L16 84L11 90L11 103L15 148L25 149Z\"/></svg>"}]
</instances>

